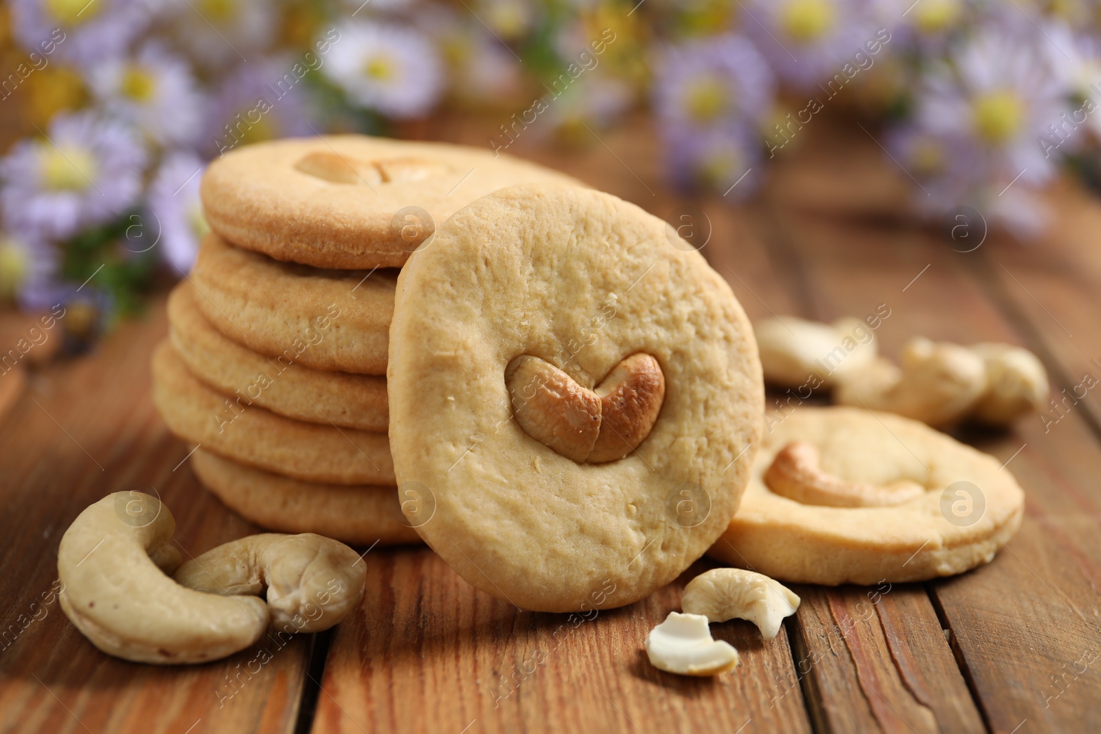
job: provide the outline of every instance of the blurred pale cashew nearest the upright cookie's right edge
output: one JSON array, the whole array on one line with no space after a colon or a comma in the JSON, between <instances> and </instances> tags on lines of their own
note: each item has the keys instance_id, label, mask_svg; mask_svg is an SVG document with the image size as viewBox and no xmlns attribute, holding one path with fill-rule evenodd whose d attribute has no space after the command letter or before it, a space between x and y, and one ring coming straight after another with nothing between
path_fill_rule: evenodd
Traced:
<instances>
[{"instance_id":1,"label":"blurred pale cashew nearest the upright cookie's right edge","mask_svg":"<svg viewBox=\"0 0 1101 734\"><path fill-rule=\"evenodd\" d=\"M827 387L875 358L874 336L860 319L819 324L785 316L757 321L753 332L765 382L781 387L808 380Z\"/></svg>"}]
</instances>

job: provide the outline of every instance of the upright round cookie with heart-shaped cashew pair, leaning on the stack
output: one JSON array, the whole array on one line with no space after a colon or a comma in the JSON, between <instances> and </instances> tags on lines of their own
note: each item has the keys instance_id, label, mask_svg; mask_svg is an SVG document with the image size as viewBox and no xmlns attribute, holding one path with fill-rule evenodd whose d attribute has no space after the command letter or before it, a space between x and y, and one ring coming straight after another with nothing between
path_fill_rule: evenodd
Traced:
<instances>
[{"instance_id":1,"label":"upright round cookie with heart-shaped cashew pair, leaning on the stack","mask_svg":"<svg viewBox=\"0 0 1101 734\"><path fill-rule=\"evenodd\" d=\"M727 283L671 237L608 194L511 187L455 213L402 270L388 368L399 489L434 497L417 532L482 591L546 612L629 604L738 507L761 430L756 344ZM630 438L611 457L606 425Z\"/></svg>"}]
</instances>

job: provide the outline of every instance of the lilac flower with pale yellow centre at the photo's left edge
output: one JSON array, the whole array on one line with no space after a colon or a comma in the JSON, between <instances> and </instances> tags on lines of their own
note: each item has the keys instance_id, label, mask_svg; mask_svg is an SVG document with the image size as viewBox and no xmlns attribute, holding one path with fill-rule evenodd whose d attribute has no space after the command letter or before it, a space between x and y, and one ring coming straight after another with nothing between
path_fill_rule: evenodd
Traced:
<instances>
[{"instance_id":1,"label":"lilac flower with pale yellow centre at the photo's left edge","mask_svg":"<svg viewBox=\"0 0 1101 734\"><path fill-rule=\"evenodd\" d=\"M4 222L67 239L137 204L145 158L131 128L92 112L58 114L46 140L22 140L0 161Z\"/></svg>"}]
</instances>

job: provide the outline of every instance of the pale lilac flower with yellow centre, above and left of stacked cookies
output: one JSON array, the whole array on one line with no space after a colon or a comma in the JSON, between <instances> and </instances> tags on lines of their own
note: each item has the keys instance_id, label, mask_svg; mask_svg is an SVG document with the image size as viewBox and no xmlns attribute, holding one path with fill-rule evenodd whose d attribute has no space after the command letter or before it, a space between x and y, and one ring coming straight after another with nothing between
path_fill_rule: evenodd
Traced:
<instances>
[{"instance_id":1,"label":"pale lilac flower with yellow centre, above and left of stacked cookies","mask_svg":"<svg viewBox=\"0 0 1101 734\"><path fill-rule=\"evenodd\" d=\"M156 43L132 58L111 59L89 72L88 83L111 113L162 145L195 140L203 98L187 63Z\"/></svg>"}]
</instances>

